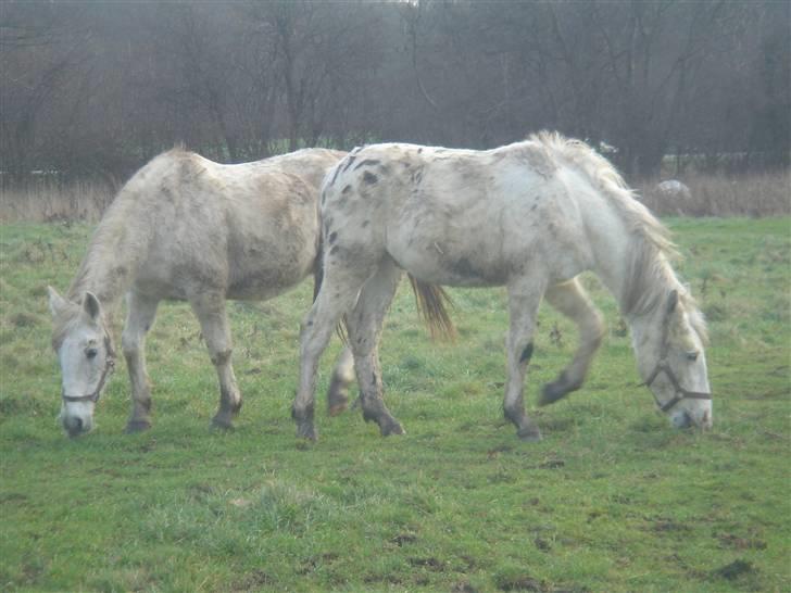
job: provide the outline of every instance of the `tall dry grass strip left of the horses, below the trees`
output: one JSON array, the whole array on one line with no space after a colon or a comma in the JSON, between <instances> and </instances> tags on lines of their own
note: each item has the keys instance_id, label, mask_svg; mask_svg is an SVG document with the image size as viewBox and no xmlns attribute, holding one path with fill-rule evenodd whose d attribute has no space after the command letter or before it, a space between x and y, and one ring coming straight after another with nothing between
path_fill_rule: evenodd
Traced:
<instances>
[{"instance_id":1,"label":"tall dry grass strip left of the horses, below the trees","mask_svg":"<svg viewBox=\"0 0 791 593\"><path fill-rule=\"evenodd\" d=\"M97 222L117 188L110 181L34 179L0 187L0 223Z\"/></svg>"}]
</instances>

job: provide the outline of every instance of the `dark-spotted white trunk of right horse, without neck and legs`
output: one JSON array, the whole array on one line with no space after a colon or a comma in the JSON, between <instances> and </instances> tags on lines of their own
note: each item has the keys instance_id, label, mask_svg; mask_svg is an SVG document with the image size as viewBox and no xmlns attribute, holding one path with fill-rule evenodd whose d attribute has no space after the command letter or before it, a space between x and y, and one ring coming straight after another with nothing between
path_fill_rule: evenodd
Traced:
<instances>
[{"instance_id":1,"label":"dark-spotted white trunk of right horse, without neck and legs","mask_svg":"<svg viewBox=\"0 0 791 593\"><path fill-rule=\"evenodd\" d=\"M578 251L583 231L569 181L527 143L491 151L374 144L327 176L324 216L425 281L498 286L558 251Z\"/></svg>"}]
</instances>

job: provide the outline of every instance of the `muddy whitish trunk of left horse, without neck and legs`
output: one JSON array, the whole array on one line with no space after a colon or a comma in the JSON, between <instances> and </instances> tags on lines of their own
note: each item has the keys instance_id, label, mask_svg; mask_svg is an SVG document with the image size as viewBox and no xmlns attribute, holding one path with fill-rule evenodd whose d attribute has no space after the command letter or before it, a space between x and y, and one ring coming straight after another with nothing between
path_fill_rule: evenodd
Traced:
<instances>
[{"instance_id":1,"label":"muddy whitish trunk of left horse, without neck and legs","mask_svg":"<svg viewBox=\"0 0 791 593\"><path fill-rule=\"evenodd\" d=\"M321 149L239 165L183 150L158 156L120 195L138 205L124 209L126 224L152 226L139 288L263 299L298 283L317 251L317 185L337 159Z\"/></svg>"}]
</instances>

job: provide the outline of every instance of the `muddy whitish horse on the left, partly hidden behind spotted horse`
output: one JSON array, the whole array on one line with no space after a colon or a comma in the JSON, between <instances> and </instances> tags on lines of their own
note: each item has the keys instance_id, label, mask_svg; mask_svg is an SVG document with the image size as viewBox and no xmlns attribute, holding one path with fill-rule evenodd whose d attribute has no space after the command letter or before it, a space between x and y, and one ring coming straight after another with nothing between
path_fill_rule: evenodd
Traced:
<instances>
[{"instance_id":1,"label":"muddy whitish horse on the left, partly hidden behind spotted horse","mask_svg":"<svg viewBox=\"0 0 791 593\"><path fill-rule=\"evenodd\" d=\"M174 149L129 179L96 229L66 296L49 289L52 345L62 371L60 417L70 436L92 428L95 404L115 357L106 315L125 293L127 431L151 426L143 343L162 299L192 306L219 379L212 424L231 426L241 395L225 301L271 299L315 272L318 186L344 154L305 149L221 165ZM347 352L332 376L330 412L344 407L352 377Z\"/></svg>"}]
</instances>

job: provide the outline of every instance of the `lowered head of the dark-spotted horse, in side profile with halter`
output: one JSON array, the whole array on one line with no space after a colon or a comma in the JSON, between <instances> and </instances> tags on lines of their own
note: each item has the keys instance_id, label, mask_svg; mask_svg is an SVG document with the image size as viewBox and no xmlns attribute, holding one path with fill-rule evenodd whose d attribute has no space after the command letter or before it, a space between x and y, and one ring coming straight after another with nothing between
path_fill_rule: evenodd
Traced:
<instances>
[{"instance_id":1,"label":"lowered head of the dark-spotted horse, in side profile with halter","mask_svg":"<svg viewBox=\"0 0 791 593\"><path fill-rule=\"evenodd\" d=\"M636 344L640 370L656 405L676 428L711 428L712 394L703 351L703 318L692 301L670 292Z\"/></svg>"}]
</instances>

